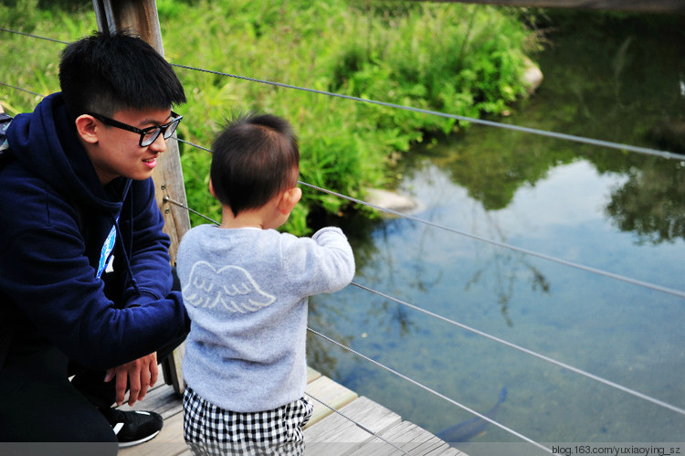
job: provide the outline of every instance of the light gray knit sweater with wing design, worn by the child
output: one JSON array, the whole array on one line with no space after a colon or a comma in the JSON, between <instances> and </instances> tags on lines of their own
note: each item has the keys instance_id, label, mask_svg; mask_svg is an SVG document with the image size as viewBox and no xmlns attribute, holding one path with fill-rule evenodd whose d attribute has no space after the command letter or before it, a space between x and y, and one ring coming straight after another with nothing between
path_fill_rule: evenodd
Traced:
<instances>
[{"instance_id":1,"label":"light gray knit sweater with wing design, worn by the child","mask_svg":"<svg viewBox=\"0 0 685 456\"><path fill-rule=\"evenodd\" d=\"M183 363L188 386L237 412L301 398L307 298L338 291L354 275L342 230L296 238L274 229L202 225L185 233L177 269L192 320Z\"/></svg>"}]
</instances>

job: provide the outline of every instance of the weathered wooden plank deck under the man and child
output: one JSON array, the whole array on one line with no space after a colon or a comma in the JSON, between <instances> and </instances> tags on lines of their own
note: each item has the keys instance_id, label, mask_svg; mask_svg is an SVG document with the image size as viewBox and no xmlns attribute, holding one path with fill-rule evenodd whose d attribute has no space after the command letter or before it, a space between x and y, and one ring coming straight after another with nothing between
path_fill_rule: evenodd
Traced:
<instances>
[{"instance_id":1,"label":"weathered wooden plank deck under the man and child","mask_svg":"<svg viewBox=\"0 0 685 456\"><path fill-rule=\"evenodd\" d=\"M427 430L403 421L392 410L369 398L358 397L352 390L311 368L306 394L311 395L314 413L304 429L305 455L467 456ZM163 379L142 402L132 408L124 405L121 409L154 410L164 419L164 427L157 437L141 445L121 449L121 456L192 455L183 437L181 398L173 387L164 384Z\"/></svg>"}]
</instances>

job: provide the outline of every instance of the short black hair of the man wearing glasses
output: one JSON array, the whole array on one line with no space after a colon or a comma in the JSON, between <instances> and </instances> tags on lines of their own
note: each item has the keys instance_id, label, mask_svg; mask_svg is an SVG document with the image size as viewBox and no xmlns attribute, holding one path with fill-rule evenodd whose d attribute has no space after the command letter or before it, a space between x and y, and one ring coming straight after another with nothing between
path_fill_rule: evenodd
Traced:
<instances>
[{"instance_id":1,"label":"short black hair of the man wearing glasses","mask_svg":"<svg viewBox=\"0 0 685 456\"><path fill-rule=\"evenodd\" d=\"M73 118L88 111L166 109L185 102L172 66L140 37L95 32L67 46L59 85Z\"/></svg>"}]
</instances>

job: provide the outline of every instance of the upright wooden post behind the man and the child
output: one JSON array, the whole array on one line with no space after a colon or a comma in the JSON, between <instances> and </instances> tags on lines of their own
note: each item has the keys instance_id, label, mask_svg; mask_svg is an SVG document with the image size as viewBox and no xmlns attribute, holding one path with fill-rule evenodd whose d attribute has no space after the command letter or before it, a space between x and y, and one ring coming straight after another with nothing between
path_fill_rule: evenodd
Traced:
<instances>
[{"instance_id":1,"label":"upright wooden post behind the man and the child","mask_svg":"<svg viewBox=\"0 0 685 456\"><path fill-rule=\"evenodd\" d=\"M155 0L93 0L93 6L101 32L129 30L164 56ZM187 207L178 143L171 139L166 146L166 152L160 155L159 164L154 168L153 181L157 205L164 216L164 231L172 241L169 254L172 264L175 264L178 244L190 229L190 217L184 207L178 207L164 199L164 196L168 196ZM163 364L166 381L173 385L177 393L183 393L185 389L181 373L183 355L184 345L180 345Z\"/></svg>"}]
</instances>

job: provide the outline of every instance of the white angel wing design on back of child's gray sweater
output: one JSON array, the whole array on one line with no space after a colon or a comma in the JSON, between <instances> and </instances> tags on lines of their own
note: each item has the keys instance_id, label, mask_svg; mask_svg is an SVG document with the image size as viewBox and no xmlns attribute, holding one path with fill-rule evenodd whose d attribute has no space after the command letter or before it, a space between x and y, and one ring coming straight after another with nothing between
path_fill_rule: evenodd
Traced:
<instances>
[{"instance_id":1,"label":"white angel wing design on back of child's gray sweater","mask_svg":"<svg viewBox=\"0 0 685 456\"><path fill-rule=\"evenodd\" d=\"M224 266L216 270L206 261L197 261L190 271L184 301L195 307L212 309L221 305L231 313L256 312L276 301L262 292L248 270Z\"/></svg>"}]
</instances>

